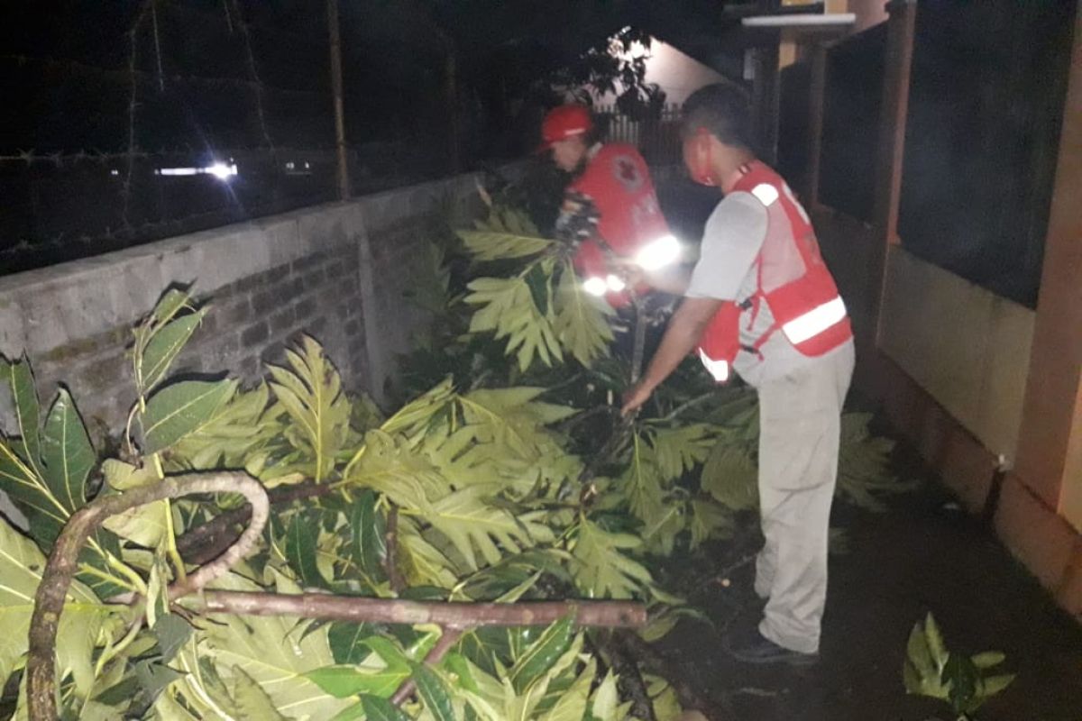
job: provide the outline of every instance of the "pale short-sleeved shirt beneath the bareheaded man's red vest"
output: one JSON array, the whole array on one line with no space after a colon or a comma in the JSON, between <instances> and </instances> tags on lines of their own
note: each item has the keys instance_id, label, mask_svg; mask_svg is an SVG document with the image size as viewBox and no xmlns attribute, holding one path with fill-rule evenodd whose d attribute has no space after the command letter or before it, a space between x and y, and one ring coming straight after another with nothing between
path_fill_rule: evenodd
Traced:
<instances>
[{"instance_id":1,"label":"pale short-sleeved shirt beneath the bareheaded man's red vest","mask_svg":"<svg viewBox=\"0 0 1082 721\"><path fill-rule=\"evenodd\" d=\"M753 195L737 191L725 196L707 221L687 296L740 303L754 295L754 263L766 240L766 208ZM757 312L744 310L740 313L740 344L754 345L771 325L774 315L765 303L758 304ZM780 330L770 335L761 351L762 357L741 350L733 361L733 369L752 386L818 360L799 351Z\"/></svg>"}]
</instances>

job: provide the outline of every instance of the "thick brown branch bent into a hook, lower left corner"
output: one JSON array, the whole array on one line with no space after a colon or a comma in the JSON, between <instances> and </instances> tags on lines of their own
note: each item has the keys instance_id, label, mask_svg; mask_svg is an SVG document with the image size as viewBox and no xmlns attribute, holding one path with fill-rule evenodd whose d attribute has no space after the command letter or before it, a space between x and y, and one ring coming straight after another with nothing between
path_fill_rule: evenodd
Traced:
<instances>
[{"instance_id":1,"label":"thick brown branch bent into a hook, lower left corner","mask_svg":"<svg viewBox=\"0 0 1082 721\"><path fill-rule=\"evenodd\" d=\"M213 562L200 568L169 589L171 599L201 589L246 557L259 543L270 506L263 485L242 472L210 472L174 476L155 485L133 489L118 496L91 502L76 511L56 538L41 583L34 599L30 618L29 653L26 660L27 700L30 721L55 721L56 713L56 631L64 600L78 568L79 550L102 521L166 498L197 493L240 493L251 504L251 523L240 538Z\"/></svg>"}]
</instances>

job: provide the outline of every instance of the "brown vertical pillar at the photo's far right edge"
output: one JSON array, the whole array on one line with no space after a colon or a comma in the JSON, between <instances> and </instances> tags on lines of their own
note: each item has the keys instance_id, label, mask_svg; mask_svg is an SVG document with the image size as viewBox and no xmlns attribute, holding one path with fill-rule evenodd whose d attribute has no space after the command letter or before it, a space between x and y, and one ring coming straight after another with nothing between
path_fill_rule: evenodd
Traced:
<instances>
[{"instance_id":1,"label":"brown vertical pillar at the photo's far right edge","mask_svg":"<svg viewBox=\"0 0 1082 721\"><path fill-rule=\"evenodd\" d=\"M1073 43L1014 476L1082 530L1082 5Z\"/></svg>"}]
</instances>

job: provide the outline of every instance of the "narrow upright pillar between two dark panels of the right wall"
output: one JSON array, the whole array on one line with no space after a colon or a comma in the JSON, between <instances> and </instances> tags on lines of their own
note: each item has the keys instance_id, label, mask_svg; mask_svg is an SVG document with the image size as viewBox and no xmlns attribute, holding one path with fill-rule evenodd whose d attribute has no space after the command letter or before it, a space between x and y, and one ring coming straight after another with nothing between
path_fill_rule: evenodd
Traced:
<instances>
[{"instance_id":1,"label":"narrow upright pillar between two dark panels of the right wall","mask_svg":"<svg viewBox=\"0 0 1082 721\"><path fill-rule=\"evenodd\" d=\"M883 102L880 105L879 156L875 159L875 202L872 249L867 294L869 319L875 328L875 345L882 330L880 309L886 289L888 248L898 242L898 206L901 198L901 165L906 149L906 118L909 114L909 81L916 35L916 0L890 0L887 21Z\"/></svg>"}]
</instances>

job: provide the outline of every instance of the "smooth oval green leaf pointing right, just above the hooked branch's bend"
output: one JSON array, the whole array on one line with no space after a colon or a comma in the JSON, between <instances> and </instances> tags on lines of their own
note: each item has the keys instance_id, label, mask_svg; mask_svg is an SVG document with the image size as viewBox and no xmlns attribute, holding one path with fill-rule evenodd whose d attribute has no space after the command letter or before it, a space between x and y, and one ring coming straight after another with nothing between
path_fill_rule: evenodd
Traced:
<instances>
[{"instance_id":1,"label":"smooth oval green leaf pointing right, just above the hooked branch's bend","mask_svg":"<svg viewBox=\"0 0 1082 721\"><path fill-rule=\"evenodd\" d=\"M143 416L143 453L163 451L199 430L236 390L236 380L182 380L156 392Z\"/></svg>"}]
</instances>

